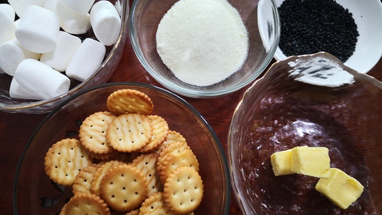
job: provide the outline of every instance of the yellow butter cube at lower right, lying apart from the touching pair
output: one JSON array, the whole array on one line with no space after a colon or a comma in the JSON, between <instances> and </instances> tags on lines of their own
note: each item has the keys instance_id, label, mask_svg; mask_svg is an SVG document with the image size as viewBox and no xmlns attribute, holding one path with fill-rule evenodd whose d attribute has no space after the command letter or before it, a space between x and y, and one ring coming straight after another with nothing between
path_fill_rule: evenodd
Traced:
<instances>
[{"instance_id":1,"label":"yellow butter cube at lower right, lying apart from the touching pair","mask_svg":"<svg viewBox=\"0 0 382 215\"><path fill-rule=\"evenodd\" d=\"M321 178L315 189L329 198L335 205L347 209L363 191L363 186L353 177L337 168L330 168L331 177Z\"/></svg>"}]
</instances>

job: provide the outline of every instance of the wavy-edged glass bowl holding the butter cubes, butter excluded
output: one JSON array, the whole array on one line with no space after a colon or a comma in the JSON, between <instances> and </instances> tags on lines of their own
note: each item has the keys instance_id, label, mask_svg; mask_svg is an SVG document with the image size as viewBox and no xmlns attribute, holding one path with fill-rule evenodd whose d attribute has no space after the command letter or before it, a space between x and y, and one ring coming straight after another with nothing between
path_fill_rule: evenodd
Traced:
<instances>
[{"instance_id":1,"label":"wavy-edged glass bowl holding the butter cubes, butter excluded","mask_svg":"<svg viewBox=\"0 0 382 215\"><path fill-rule=\"evenodd\" d=\"M274 63L244 93L229 128L231 183L243 214L382 214L381 105L380 81L328 53ZM329 148L331 167L364 186L349 208L315 191L318 178L274 175L270 155L302 145Z\"/></svg>"}]
</instances>

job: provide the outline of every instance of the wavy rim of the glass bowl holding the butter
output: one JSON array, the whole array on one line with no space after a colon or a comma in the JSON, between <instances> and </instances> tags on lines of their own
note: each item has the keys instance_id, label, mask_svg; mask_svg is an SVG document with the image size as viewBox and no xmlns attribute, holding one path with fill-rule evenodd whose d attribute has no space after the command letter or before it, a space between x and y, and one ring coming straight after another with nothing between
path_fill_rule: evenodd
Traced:
<instances>
[{"instance_id":1,"label":"wavy rim of the glass bowl holding the butter","mask_svg":"<svg viewBox=\"0 0 382 215\"><path fill-rule=\"evenodd\" d=\"M245 204L244 202L241 200L241 192L239 192L239 188L237 186L237 181L236 181L236 178L234 177L234 172L233 172L233 157L232 157L232 153L233 153L233 149L232 149L232 145L230 144L231 142L231 133L232 133L232 130L233 130L233 122L234 122L234 119L236 119L237 117L237 112L239 111L239 109L241 108L241 105L242 103L244 102L244 100L246 99L246 97L249 95L249 92L252 90L252 88L254 88L258 82L262 82L263 79L265 79L265 75L270 72L274 67L277 67L278 64L286 64L287 62L290 62L290 59L295 59L295 58L306 58L306 57L314 57L314 56L328 56L329 58L332 58L334 59L335 61L337 61L337 63L342 67L344 68L347 72L355 75L355 77L359 77L359 76L364 76L368 79L368 81L372 82L373 84L375 84L376 87L379 87L382 89L382 82L379 81L378 79L368 75L368 74L365 74L365 73L360 73L360 72L357 72L355 71L354 69L346 66L345 64L343 64L339 59L337 59L335 56L333 56L332 54L328 53L328 52L324 52L324 51L321 51L321 52L317 52L317 53L314 53L314 54L304 54L304 55L292 55L292 56L289 56L289 57L286 57L282 60L278 60L276 62L274 62L269 68L268 70L264 73L264 75L257 79L256 81L254 81L254 83L252 83L252 85L247 89L245 90L245 92L243 93L238 105L236 106L233 114L232 114L232 118L231 118L231 121L230 121L230 125L229 125L229 128L228 128L228 134L227 134L227 159L228 159L228 163L229 163L229 168L230 168L230 173L231 173L231 185L232 185L232 189L233 189L233 193L235 195L235 199L236 199L236 202L238 203L239 205L239 208L241 210L241 212L243 214L246 214L248 211L246 211L246 207L245 207ZM236 167L234 167L234 169L236 169Z\"/></svg>"}]
</instances>

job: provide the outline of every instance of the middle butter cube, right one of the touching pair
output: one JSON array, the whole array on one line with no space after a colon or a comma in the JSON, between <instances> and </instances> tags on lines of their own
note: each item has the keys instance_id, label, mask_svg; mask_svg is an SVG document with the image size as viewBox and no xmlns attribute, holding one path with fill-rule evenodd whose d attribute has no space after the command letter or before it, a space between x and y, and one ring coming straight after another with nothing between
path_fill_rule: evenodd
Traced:
<instances>
[{"instance_id":1,"label":"middle butter cube, right one of the touching pair","mask_svg":"<svg viewBox=\"0 0 382 215\"><path fill-rule=\"evenodd\" d=\"M330 178L329 149L326 147L292 148L290 169L293 172L318 178Z\"/></svg>"}]
</instances>

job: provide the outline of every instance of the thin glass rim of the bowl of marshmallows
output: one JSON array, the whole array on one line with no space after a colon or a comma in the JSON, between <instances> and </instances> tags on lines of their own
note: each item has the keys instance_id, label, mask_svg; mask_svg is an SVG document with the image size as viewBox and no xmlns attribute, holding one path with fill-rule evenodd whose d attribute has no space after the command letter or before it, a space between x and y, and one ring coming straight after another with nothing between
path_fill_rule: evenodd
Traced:
<instances>
[{"instance_id":1,"label":"thin glass rim of the bowl of marshmallows","mask_svg":"<svg viewBox=\"0 0 382 215\"><path fill-rule=\"evenodd\" d=\"M36 106L41 106L45 105L54 101L58 101L60 99L68 98L68 96L75 95L78 92L81 92L82 88L85 87L87 83L89 83L98 73L101 72L101 70L105 67L106 64L109 63L111 60L112 56L114 56L115 52L117 49L121 46L124 45L125 41L122 41L122 36L126 30L128 30L128 26L126 27L126 22L128 22L128 15L129 15L129 0L121 0L122 6L121 6L121 28L119 30L119 36L116 41L116 43L113 45L113 48L111 49L109 55L106 57L106 59L102 62L102 64L98 67L98 69L85 81L82 81L80 84L69 90L68 92L53 97L49 99L44 99L44 100L39 100L39 101L34 101L34 102L29 102L29 103L24 103L24 104L2 104L0 103L0 110L1 111L15 111L15 110L20 110L20 109L28 109L28 108L33 108ZM123 48L123 47L122 47ZM27 100L27 99L24 99Z\"/></svg>"}]
</instances>

